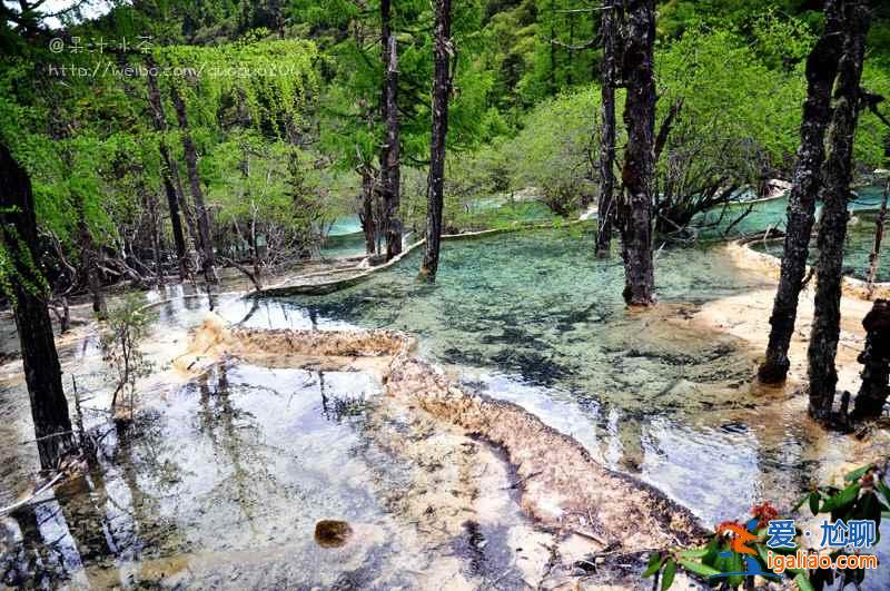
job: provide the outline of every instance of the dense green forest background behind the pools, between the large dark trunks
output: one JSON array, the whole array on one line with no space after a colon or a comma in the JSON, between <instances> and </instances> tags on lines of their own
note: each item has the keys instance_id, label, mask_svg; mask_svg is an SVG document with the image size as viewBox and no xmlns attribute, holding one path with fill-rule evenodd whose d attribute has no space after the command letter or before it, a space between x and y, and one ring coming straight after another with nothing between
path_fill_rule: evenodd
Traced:
<instances>
[{"instance_id":1,"label":"dense green forest background behind the pools, between the large dark trunks","mask_svg":"<svg viewBox=\"0 0 890 591\"><path fill-rule=\"evenodd\" d=\"M260 275L317 254L334 220L363 204L379 217L377 0L62 4L0 4L0 135L31 177L55 294L161 280L177 272L177 248L189 253L180 277L212 272L208 258ZM659 193L694 201L790 178L821 9L657 3L656 125L670 126ZM863 87L890 96L890 7L876 9ZM390 11L398 214L422 235L434 14L416 0ZM488 196L531 193L561 216L595 203L601 13L582 0L454 6L446 233L531 207L474 207ZM879 112L860 118L860 175L883 162ZM623 134L619 126L619 152ZM657 232L676 232L696 210L674 205L656 209Z\"/></svg>"}]
</instances>

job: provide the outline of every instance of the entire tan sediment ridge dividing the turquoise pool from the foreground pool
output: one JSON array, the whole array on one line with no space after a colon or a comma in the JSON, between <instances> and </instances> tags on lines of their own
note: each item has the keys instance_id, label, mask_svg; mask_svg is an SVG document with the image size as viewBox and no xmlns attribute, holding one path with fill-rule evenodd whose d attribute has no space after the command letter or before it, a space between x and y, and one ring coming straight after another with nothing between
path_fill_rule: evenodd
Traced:
<instances>
[{"instance_id":1,"label":"entire tan sediment ridge dividing the turquoise pool from the foreground pool","mask_svg":"<svg viewBox=\"0 0 890 591\"><path fill-rule=\"evenodd\" d=\"M411 338L392 331L229 329L210 317L175 364L191 372L222 356L251 363L296 363L306 356L352 363L386 359L382 376L387 396L503 450L515 470L511 487L518 491L522 510L546 529L581 536L593 550L610 546L624 552L704 540L706 532L685 508L643 482L606 470L575 440L522 407L463 391L439 370L414 357L412 346ZM428 503L434 512L438 502ZM463 520L459 512L454 516ZM445 529L452 530L455 522L447 521Z\"/></svg>"}]
</instances>

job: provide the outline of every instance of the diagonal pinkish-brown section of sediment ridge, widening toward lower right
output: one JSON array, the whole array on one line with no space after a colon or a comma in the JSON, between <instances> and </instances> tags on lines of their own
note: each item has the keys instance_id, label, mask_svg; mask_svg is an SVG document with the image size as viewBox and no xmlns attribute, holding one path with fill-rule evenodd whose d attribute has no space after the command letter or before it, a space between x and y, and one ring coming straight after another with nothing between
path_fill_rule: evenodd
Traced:
<instances>
[{"instance_id":1,"label":"diagonal pinkish-brown section of sediment ridge, widening toward lower right","mask_svg":"<svg viewBox=\"0 0 890 591\"><path fill-rule=\"evenodd\" d=\"M386 392L503 449L516 470L523 510L545 526L623 551L704 539L695 518L660 491L601 466L580 443L524 408L466 393L407 353L393 359Z\"/></svg>"}]
</instances>

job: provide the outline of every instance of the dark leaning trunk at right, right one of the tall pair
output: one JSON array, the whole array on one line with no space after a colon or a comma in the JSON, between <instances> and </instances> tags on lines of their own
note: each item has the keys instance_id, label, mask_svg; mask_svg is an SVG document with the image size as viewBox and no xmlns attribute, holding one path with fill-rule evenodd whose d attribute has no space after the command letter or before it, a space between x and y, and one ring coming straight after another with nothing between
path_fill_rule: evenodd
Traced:
<instances>
[{"instance_id":1,"label":"dark leaning trunk at right, right one of the tall pair","mask_svg":"<svg viewBox=\"0 0 890 591\"><path fill-rule=\"evenodd\" d=\"M847 236L847 199L852 177L853 140L859 117L862 60L870 14L864 1L846 6L843 56L838 66L834 110L828 131L828 154L822 170L823 214L819 227L819 259L815 267L815 301L810 346L807 351L810 378L810 414L825 421L831 415L838 374L834 356L840 335L843 240Z\"/></svg>"}]
</instances>

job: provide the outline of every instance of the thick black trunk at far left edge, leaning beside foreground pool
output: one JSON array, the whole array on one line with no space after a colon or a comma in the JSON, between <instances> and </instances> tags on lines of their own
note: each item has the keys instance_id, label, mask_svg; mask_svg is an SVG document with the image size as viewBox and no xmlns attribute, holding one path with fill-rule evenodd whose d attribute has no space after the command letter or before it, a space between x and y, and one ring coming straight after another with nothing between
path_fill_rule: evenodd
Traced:
<instances>
[{"instance_id":1,"label":"thick black trunk at far left edge, leaning beside foreground pool","mask_svg":"<svg viewBox=\"0 0 890 591\"><path fill-rule=\"evenodd\" d=\"M14 273L9 295L13 298L40 466L51 469L73 450L75 439L47 308L48 287L37 268L37 216L31 181L2 144L0 236Z\"/></svg>"}]
</instances>

